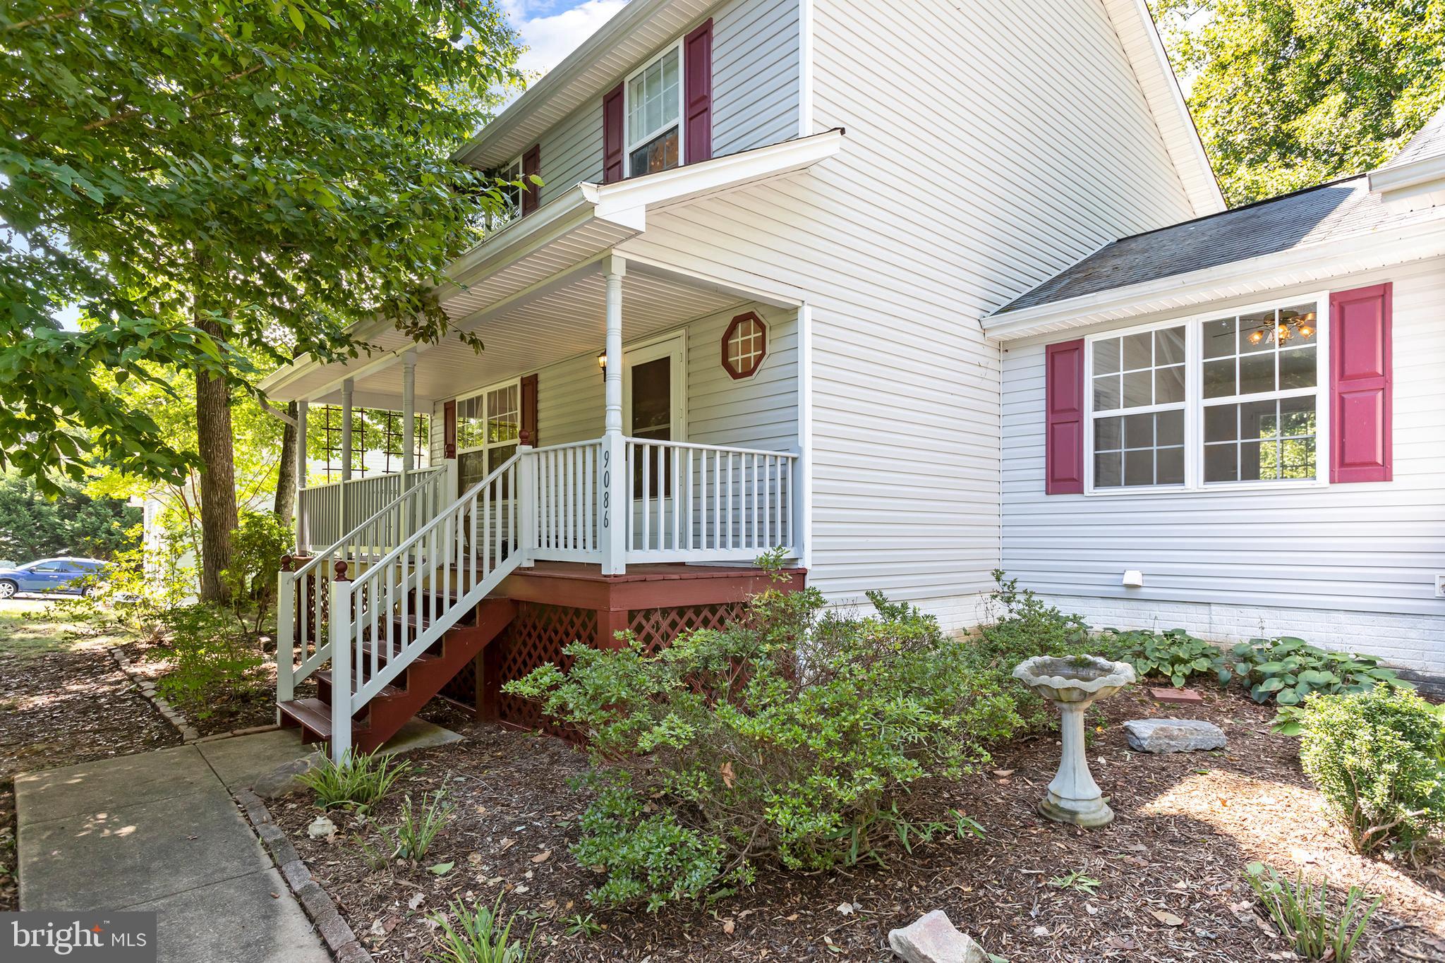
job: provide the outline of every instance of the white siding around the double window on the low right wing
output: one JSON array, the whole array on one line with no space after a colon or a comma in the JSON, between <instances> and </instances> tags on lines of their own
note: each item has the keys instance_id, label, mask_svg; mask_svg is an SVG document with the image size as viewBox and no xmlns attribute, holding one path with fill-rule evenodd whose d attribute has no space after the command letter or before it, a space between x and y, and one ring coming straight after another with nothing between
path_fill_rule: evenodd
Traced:
<instances>
[{"instance_id":1,"label":"white siding around the double window on the low right wing","mask_svg":"<svg viewBox=\"0 0 1445 963\"><path fill-rule=\"evenodd\" d=\"M1006 345L1003 567L1068 606L1069 596L1212 603L1282 611L1445 616L1445 261L1340 277L1332 290L1394 283L1394 479L1254 485L1130 497L1043 494L1043 351L1052 338ZM1308 300L1309 287L1272 292ZM1277 297L1276 297L1277 295ZM1254 293L1221 312L1259 303ZM1162 319L1162 318L1160 318ZM1329 332L1325 331L1328 347ZM1322 458L1325 458L1322 455ZM1321 465L1328 478L1328 463ZM1290 488L1290 489L1283 489ZM1124 589L1126 569L1144 588ZM1090 603L1094 606L1094 603ZM1309 616L1302 616L1308 621ZM1273 618L1277 628L1280 619ZM1160 628L1169 628L1168 621ZM1298 634L1306 635L1305 629ZM1379 645L1386 645L1380 640ZM1374 648L1368 637L1358 648ZM1379 648L1377 651L1386 651ZM1436 653L1445 668L1445 653Z\"/></svg>"}]
</instances>

